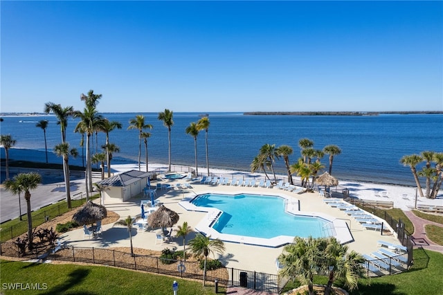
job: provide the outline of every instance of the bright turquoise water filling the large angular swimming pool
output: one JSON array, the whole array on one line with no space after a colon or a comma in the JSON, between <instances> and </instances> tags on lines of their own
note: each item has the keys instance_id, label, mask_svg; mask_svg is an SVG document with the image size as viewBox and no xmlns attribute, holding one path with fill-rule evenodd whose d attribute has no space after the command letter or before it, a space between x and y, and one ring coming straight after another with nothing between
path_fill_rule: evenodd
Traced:
<instances>
[{"instance_id":1,"label":"bright turquoise water filling the large angular swimming pool","mask_svg":"<svg viewBox=\"0 0 443 295\"><path fill-rule=\"evenodd\" d=\"M210 193L197 196L192 204L224 212L213 224L213 229L219 233L267 239L278 235L301 238L329 235L329 221L284 213L284 199L281 197Z\"/></svg>"}]
</instances>

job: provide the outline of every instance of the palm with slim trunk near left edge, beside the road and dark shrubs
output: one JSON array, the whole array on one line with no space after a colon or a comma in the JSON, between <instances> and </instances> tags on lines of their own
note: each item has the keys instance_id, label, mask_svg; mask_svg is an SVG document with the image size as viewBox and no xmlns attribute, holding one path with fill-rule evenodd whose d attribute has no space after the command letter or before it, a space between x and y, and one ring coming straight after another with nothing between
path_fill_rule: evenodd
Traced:
<instances>
[{"instance_id":1,"label":"palm with slim trunk near left edge, beside the road and dark shrubs","mask_svg":"<svg viewBox=\"0 0 443 295\"><path fill-rule=\"evenodd\" d=\"M15 188L19 188L19 190L23 191L25 200L26 200L26 215L28 217L28 249L33 249L33 216L31 215L30 211L30 190L35 190L40 182L42 182L42 176L40 176L36 172L29 172L29 173L19 173L18 175L15 175L14 179L12 180L15 182L15 184L11 184L11 182L8 182L7 184L10 184L11 186L5 186L6 190L14 190Z\"/></svg>"}]
</instances>

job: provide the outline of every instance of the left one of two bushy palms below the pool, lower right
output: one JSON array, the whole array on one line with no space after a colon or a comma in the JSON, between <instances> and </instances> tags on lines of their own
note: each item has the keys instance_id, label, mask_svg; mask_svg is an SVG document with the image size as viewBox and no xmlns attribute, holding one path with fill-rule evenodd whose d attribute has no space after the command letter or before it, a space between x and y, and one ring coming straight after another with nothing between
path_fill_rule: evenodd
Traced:
<instances>
[{"instance_id":1,"label":"left one of two bushy palms below the pool, lower right","mask_svg":"<svg viewBox=\"0 0 443 295\"><path fill-rule=\"evenodd\" d=\"M284 265L278 274L282 277L297 278L300 283L307 284L309 295L314 295L314 275L323 258L318 243L319 241L312 237L296 237L293 244L284 246L284 252L278 256L279 262Z\"/></svg>"}]
</instances>

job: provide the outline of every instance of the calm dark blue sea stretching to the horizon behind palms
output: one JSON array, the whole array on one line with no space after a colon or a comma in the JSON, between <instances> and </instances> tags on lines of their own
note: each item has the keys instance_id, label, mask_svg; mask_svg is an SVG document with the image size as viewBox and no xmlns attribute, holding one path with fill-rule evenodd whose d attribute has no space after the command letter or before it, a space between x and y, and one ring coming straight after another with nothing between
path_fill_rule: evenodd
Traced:
<instances>
[{"instance_id":1,"label":"calm dark blue sea stretching to the horizon behind palms","mask_svg":"<svg viewBox=\"0 0 443 295\"><path fill-rule=\"evenodd\" d=\"M137 113L138 114L138 113ZM109 120L118 120L123 129L110 133L111 143L120 147L114 158L136 160L138 131L127 130L129 119L136 113L102 114ZM168 129L157 120L157 113L143 113L145 122L153 125L148 139L149 161L168 163ZM194 139L185 129L199 120L197 113L174 113L172 126L172 163L194 166ZM49 121L46 130L48 149L60 143L60 126L54 116L3 117L1 134L11 134L17 140L15 147L44 151L42 129L35 127L38 120ZM410 169L399 163L406 154L424 150L443 152L443 115L380 115L380 116L244 116L240 113L210 113L208 132L209 163L211 168L248 171L253 158L265 143L290 145L294 153L291 163L300 157L298 140L309 138L314 148L338 145L342 153L334 158L333 175L338 179L371 181L413 186ZM76 119L70 119L67 140L78 147L80 134L73 132ZM105 143L105 134L98 134L98 146ZM205 132L197 139L199 166L206 166ZM95 149L95 139L94 139ZM1 149L4 157L3 149ZM144 159L142 143L142 161ZM44 161L44 158L38 158ZM78 161L78 160L77 160ZM328 159L322 160L327 169ZM60 159L61 163L61 159ZM81 163L81 162L80 162ZM276 170L284 174L283 161ZM204 169L199 172L205 172Z\"/></svg>"}]
</instances>

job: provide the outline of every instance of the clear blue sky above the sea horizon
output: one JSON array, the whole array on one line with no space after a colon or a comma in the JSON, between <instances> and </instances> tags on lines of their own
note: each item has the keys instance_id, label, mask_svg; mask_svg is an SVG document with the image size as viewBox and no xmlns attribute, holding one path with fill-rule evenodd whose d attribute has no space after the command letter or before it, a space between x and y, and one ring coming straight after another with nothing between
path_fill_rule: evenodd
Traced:
<instances>
[{"instance_id":1,"label":"clear blue sky above the sea horizon","mask_svg":"<svg viewBox=\"0 0 443 295\"><path fill-rule=\"evenodd\" d=\"M443 110L442 1L1 1L1 112Z\"/></svg>"}]
</instances>

